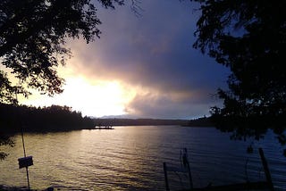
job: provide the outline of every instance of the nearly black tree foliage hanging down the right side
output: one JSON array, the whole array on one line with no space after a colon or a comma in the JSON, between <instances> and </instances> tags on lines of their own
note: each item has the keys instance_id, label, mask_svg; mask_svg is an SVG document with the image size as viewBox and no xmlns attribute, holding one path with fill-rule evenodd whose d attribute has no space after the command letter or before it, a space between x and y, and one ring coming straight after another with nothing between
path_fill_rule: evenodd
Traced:
<instances>
[{"instance_id":1,"label":"nearly black tree foliage hanging down the right side","mask_svg":"<svg viewBox=\"0 0 286 191\"><path fill-rule=\"evenodd\" d=\"M286 1L194 0L200 3L195 48L229 67L216 125L235 138L261 137L267 129L281 143L286 127Z\"/></svg>"}]
</instances>

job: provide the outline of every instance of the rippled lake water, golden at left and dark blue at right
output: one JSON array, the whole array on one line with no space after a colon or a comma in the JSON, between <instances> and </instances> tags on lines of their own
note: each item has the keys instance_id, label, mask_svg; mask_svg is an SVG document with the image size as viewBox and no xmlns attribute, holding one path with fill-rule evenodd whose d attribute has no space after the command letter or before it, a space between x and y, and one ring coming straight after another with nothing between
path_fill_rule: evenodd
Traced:
<instances>
[{"instance_id":1,"label":"rippled lake water, golden at left and dark blue at right","mask_svg":"<svg viewBox=\"0 0 286 191\"><path fill-rule=\"evenodd\" d=\"M23 155L21 137L0 162L0 185L26 186L26 172L18 169ZM229 134L212 128L115 127L114 130L80 130L25 134L32 188L61 190L164 190L163 162L180 164L180 150L187 147L195 187L264 180L258 147L263 147L273 182L286 190L286 158L269 133L254 142L231 141ZM188 187L184 174L169 173L172 189Z\"/></svg>"}]
</instances>

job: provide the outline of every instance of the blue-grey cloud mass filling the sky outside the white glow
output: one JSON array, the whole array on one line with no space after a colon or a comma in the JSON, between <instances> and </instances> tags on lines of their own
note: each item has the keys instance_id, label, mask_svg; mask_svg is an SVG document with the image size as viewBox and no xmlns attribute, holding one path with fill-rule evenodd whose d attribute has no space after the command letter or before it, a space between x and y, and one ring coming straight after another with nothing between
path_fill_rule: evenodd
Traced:
<instances>
[{"instance_id":1,"label":"blue-grey cloud mass filling the sky outside the white glow","mask_svg":"<svg viewBox=\"0 0 286 191\"><path fill-rule=\"evenodd\" d=\"M228 71L192 48L198 13L189 1L153 1L100 9L103 34L95 43L72 45L76 67L93 79L141 87L126 112L139 117L187 118L219 104L212 96Z\"/></svg>"}]
</instances>

